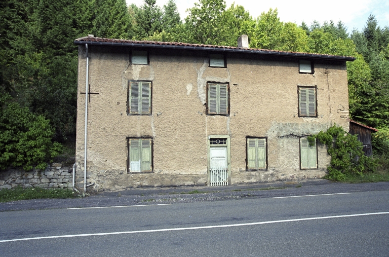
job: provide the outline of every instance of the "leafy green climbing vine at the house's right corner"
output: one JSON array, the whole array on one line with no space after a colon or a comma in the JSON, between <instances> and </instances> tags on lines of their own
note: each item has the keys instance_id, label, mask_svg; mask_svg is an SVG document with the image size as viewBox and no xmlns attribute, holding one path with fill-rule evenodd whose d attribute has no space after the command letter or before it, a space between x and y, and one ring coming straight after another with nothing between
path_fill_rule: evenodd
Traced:
<instances>
[{"instance_id":1,"label":"leafy green climbing vine at the house's right corner","mask_svg":"<svg viewBox=\"0 0 389 257\"><path fill-rule=\"evenodd\" d=\"M359 174L375 170L376 164L370 157L364 155L362 142L357 135L352 135L337 127L336 124L326 132L308 136L310 145L314 145L316 138L320 143L327 145L327 153L331 156L328 174L325 178L344 180L346 175Z\"/></svg>"}]
</instances>

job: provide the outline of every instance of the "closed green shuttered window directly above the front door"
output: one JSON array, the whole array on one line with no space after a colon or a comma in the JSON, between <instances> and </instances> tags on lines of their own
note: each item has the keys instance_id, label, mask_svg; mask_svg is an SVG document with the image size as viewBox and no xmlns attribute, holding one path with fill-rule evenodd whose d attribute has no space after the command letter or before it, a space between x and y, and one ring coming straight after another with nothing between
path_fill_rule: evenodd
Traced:
<instances>
[{"instance_id":1,"label":"closed green shuttered window directly above the front door","mask_svg":"<svg viewBox=\"0 0 389 257\"><path fill-rule=\"evenodd\" d=\"M228 84L208 83L207 114L228 115Z\"/></svg>"}]
</instances>

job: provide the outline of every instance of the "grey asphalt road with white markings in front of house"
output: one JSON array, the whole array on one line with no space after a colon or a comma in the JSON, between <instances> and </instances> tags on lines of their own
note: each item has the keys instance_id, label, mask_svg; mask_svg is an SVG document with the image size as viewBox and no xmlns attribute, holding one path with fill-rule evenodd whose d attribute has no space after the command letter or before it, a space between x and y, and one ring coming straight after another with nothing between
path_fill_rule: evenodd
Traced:
<instances>
[{"instance_id":1,"label":"grey asphalt road with white markings in front of house","mask_svg":"<svg viewBox=\"0 0 389 257\"><path fill-rule=\"evenodd\" d=\"M319 195L303 187L240 200L2 211L0 255L389 256L389 188ZM123 194L112 199L131 198Z\"/></svg>"}]
</instances>

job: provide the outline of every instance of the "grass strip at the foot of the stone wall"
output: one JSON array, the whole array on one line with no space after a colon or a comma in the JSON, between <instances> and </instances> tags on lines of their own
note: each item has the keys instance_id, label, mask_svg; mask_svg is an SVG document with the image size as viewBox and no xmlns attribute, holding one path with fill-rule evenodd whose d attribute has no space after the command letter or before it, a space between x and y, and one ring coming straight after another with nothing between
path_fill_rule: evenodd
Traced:
<instances>
[{"instance_id":1,"label":"grass strip at the foot of the stone wall","mask_svg":"<svg viewBox=\"0 0 389 257\"><path fill-rule=\"evenodd\" d=\"M70 189L43 189L17 187L15 189L0 190L0 202L10 202L44 198L73 198L74 192Z\"/></svg>"}]
</instances>

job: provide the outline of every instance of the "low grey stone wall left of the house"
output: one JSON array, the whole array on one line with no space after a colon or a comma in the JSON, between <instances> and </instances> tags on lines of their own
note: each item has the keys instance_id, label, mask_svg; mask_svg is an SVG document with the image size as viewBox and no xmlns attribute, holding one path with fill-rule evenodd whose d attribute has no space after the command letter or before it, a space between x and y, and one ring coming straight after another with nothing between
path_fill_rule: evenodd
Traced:
<instances>
[{"instance_id":1,"label":"low grey stone wall left of the house","mask_svg":"<svg viewBox=\"0 0 389 257\"><path fill-rule=\"evenodd\" d=\"M72 186L72 168L60 163L48 164L45 170L8 169L0 171L0 189L23 188L69 188Z\"/></svg>"}]
</instances>

